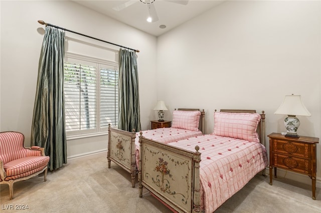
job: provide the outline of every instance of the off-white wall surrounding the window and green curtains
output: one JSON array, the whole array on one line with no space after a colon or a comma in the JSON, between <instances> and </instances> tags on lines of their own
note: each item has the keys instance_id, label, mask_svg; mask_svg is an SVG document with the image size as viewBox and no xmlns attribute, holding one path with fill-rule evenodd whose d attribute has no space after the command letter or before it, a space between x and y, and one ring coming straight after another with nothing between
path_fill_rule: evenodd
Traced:
<instances>
[{"instance_id":1,"label":"off-white wall surrounding the window and green curtains","mask_svg":"<svg viewBox=\"0 0 321 213\"><path fill-rule=\"evenodd\" d=\"M30 145L31 124L38 76L38 62L46 22L113 43L139 49L137 53L141 126L150 126L156 102L156 37L89 10L72 1L0 1L1 87L0 130L23 132ZM66 32L66 50L77 39L89 46L119 49L107 43ZM87 44L88 44L87 43ZM75 47L75 46L73 46ZM104 49L103 49L104 50ZM94 54L89 48L82 53ZM104 53L104 51L102 51ZM96 55L95 55L96 56ZM116 58L115 58L116 59ZM107 135L67 141L68 157L107 149Z\"/></svg>"}]
</instances>

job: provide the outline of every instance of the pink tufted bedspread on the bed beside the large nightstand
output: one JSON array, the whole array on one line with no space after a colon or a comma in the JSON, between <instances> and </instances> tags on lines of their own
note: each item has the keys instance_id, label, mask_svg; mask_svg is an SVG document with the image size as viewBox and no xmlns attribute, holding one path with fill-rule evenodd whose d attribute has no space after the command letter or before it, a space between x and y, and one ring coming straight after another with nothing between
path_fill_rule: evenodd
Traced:
<instances>
[{"instance_id":1,"label":"pink tufted bedspread on the bed beside the large nightstand","mask_svg":"<svg viewBox=\"0 0 321 213\"><path fill-rule=\"evenodd\" d=\"M201 208L213 212L268 165L266 148L258 142L202 135L171 145L195 151L200 146Z\"/></svg>"}]
</instances>

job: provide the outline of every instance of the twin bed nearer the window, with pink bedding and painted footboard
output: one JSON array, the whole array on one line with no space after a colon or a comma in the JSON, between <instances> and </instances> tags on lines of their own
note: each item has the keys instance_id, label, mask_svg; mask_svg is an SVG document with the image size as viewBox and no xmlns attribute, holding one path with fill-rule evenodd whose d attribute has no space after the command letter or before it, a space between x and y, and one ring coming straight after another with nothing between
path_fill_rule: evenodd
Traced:
<instances>
[{"instance_id":1,"label":"twin bed nearer the window, with pink bedding and painted footboard","mask_svg":"<svg viewBox=\"0 0 321 213\"><path fill-rule=\"evenodd\" d=\"M169 143L189 137L197 137L204 132L205 111L195 108L178 108L173 111L172 127L143 130L145 137L162 143ZM139 160L139 133L120 130L108 126L108 168L113 161L131 174L131 185L135 186L135 176Z\"/></svg>"}]
</instances>

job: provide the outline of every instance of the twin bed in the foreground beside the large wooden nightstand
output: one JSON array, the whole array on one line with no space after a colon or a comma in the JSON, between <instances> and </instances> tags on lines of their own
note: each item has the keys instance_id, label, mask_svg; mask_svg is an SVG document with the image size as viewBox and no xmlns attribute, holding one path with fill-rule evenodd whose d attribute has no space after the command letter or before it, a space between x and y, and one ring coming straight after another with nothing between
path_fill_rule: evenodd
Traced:
<instances>
[{"instance_id":1,"label":"twin bed in the foreground beside the large wooden nightstand","mask_svg":"<svg viewBox=\"0 0 321 213\"><path fill-rule=\"evenodd\" d=\"M145 187L177 212L213 212L268 165L265 114L214 112L214 130L168 144L139 137L139 197ZM233 181L235 180L235 181Z\"/></svg>"}]
</instances>

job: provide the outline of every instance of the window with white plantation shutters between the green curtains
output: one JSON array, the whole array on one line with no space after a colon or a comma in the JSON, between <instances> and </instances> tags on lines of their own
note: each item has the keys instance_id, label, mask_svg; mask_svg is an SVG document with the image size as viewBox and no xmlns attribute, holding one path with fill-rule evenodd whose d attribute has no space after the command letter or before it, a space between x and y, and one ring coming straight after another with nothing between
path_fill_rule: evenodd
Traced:
<instances>
[{"instance_id":1,"label":"window with white plantation shutters between the green curtains","mask_svg":"<svg viewBox=\"0 0 321 213\"><path fill-rule=\"evenodd\" d=\"M67 135L107 131L118 125L115 62L69 53L64 63Z\"/></svg>"}]
</instances>

